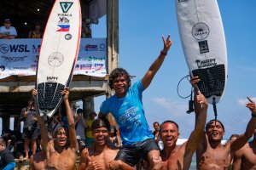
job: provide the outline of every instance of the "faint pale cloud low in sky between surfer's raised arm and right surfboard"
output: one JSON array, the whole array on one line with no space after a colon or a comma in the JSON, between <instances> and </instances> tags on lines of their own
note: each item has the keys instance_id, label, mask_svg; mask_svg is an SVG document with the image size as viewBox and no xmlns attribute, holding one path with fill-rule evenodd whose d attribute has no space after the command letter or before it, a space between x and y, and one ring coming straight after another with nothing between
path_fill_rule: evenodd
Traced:
<instances>
[{"instance_id":1,"label":"faint pale cloud low in sky between surfer's raised arm and right surfboard","mask_svg":"<svg viewBox=\"0 0 256 170\"><path fill-rule=\"evenodd\" d=\"M185 105L183 103L172 101L172 99L154 98L152 100L155 104L160 105L175 116L183 116L189 107L188 105Z\"/></svg>"}]
</instances>

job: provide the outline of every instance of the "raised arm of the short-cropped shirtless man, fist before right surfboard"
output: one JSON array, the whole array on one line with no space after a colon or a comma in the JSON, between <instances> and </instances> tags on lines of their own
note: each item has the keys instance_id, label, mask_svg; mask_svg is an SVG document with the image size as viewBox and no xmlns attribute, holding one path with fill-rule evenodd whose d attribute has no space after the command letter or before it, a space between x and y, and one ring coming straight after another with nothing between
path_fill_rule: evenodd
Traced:
<instances>
[{"instance_id":1,"label":"raised arm of the short-cropped shirtless man, fist before right surfboard","mask_svg":"<svg viewBox=\"0 0 256 170\"><path fill-rule=\"evenodd\" d=\"M201 94L200 91L198 91L198 94L196 95L196 102L201 105L200 112L197 116L197 120L195 122L195 129L194 131L190 134L189 140L186 144L185 147L185 155L184 157L190 158L190 156L193 156L195 150L197 149L200 141L201 141L201 134L204 132L204 127L207 121L207 108L208 108L208 103L207 99L203 94ZM190 161L190 160L186 160ZM184 162L186 162L184 160Z\"/></svg>"}]
</instances>

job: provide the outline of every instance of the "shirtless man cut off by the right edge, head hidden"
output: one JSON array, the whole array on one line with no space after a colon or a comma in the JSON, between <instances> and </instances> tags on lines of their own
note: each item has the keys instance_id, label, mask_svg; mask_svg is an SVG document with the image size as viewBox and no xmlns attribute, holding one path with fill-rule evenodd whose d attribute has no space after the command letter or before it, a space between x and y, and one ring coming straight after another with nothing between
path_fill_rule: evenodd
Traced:
<instances>
[{"instance_id":1,"label":"shirtless man cut off by the right edge, head hidden","mask_svg":"<svg viewBox=\"0 0 256 170\"><path fill-rule=\"evenodd\" d=\"M254 108L254 114L256 109ZM240 150L237 150L234 154L233 170L256 169L256 128L253 132L253 140L245 144Z\"/></svg>"}]
</instances>

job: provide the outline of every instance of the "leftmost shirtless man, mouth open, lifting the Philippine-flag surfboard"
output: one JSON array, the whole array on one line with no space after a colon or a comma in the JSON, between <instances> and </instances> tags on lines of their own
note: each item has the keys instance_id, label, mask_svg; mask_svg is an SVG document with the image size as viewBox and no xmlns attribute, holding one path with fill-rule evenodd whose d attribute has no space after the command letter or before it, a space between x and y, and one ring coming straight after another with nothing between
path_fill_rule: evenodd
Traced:
<instances>
[{"instance_id":1,"label":"leftmost shirtless man, mouth open, lifting the Philippine-flag surfboard","mask_svg":"<svg viewBox=\"0 0 256 170\"><path fill-rule=\"evenodd\" d=\"M64 96L63 102L67 111L68 130L66 127L57 128L55 132L55 144L53 145L51 139L48 139L47 144L44 143L46 146L46 168L71 170L75 167L78 143L73 114L68 101L68 88L65 88L61 94ZM46 133L42 133L43 135L46 135Z\"/></svg>"}]
</instances>

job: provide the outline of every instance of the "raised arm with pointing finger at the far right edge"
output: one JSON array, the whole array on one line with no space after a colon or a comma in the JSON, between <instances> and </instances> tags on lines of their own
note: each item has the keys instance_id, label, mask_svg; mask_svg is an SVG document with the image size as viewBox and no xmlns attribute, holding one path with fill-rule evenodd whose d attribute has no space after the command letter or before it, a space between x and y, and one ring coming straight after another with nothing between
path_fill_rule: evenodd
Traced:
<instances>
[{"instance_id":1,"label":"raised arm with pointing finger at the far right edge","mask_svg":"<svg viewBox=\"0 0 256 170\"><path fill-rule=\"evenodd\" d=\"M253 136L253 131L256 124L256 106L252 99L247 97L249 103L247 103L247 108L252 112L252 117L247 124L246 132L239 135L235 140L230 141L230 151L231 153L239 150L244 144L247 143L248 139Z\"/></svg>"}]
</instances>

